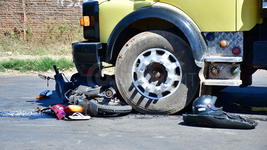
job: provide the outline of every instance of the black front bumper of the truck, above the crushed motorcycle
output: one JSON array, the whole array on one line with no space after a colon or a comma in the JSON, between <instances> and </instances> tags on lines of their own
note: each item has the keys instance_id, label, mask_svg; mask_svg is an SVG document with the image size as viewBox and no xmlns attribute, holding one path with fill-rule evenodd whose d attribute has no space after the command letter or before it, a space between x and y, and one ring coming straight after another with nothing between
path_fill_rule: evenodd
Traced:
<instances>
[{"instance_id":1,"label":"black front bumper of the truck, above the crushed motorcycle","mask_svg":"<svg viewBox=\"0 0 267 150\"><path fill-rule=\"evenodd\" d=\"M103 76L103 57L98 56L101 43L73 43L72 56L74 65L81 76Z\"/></svg>"}]
</instances>

